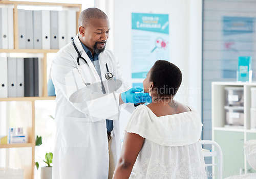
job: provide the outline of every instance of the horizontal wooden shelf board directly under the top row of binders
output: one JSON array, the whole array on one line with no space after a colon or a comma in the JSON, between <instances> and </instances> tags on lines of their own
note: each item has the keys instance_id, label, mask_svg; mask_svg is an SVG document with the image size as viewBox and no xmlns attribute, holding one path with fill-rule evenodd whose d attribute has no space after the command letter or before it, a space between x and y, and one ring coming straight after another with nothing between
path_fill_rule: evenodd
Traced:
<instances>
[{"instance_id":1,"label":"horizontal wooden shelf board directly under the top row of binders","mask_svg":"<svg viewBox=\"0 0 256 179\"><path fill-rule=\"evenodd\" d=\"M0 53L44 54L44 53L57 53L58 50L59 49L0 49Z\"/></svg>"}]
</instances>

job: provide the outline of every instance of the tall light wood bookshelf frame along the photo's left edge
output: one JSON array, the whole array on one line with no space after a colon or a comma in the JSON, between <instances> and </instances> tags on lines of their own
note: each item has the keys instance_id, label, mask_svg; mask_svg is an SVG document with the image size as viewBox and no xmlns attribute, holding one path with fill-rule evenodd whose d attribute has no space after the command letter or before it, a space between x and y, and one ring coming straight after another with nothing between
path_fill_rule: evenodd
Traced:
<instances>
[{"instance_id":1,"label":"tall light wood bookshelf frame along the photo's left edge","mask_svg":"<svg viewBox=\"0 0 256 179\"><path fill-rule=\"evenodd\" d=\"M20 143L20 144L0 144L0 150L5 149L17 149L21 150L22 155L27 155L26 159L28 161L24 161L24 165L21 164L20 168L24 169L24 178L26 179L33 179L34 178L34 166L35 166L35 101L36 100L55 100L55 96L48 96L48 90L47 90L47 67L49 64L47 64L47 54L49 53L57 53L58 49L19 49L18 45L18 8L20 6L36 6L36 7L56 7L56 8L62 8L63 10L67 10L69 8L75 9L76 11L76 32L78 32L78 18L81 13L81 4L61 4L61 3L44 3L44 2L18 2L18 1L0 1L0 7L6 6L6 5L12 5L13 8L13 28L14 28L14 49L0 49L0 55L1 54L15 54L15 53L25 53L25 54L33 54L37 56L40 54L42 56L42 96L41 97L6 97L6 98L0 98L0 102L6 102L9 103L11 101L24 101L24 103L29 103L29 122L28 119L21 121L23 123L28 122L29 124L24 124L24 126L27 128L25 131L27 131L28 135L28 143ZM75 36L75 34L74 34ZM23 102L22 102L23 103ZM6 122L9 121L8 118L1 118L0 121L5 120ZM8 134L5 134L8 135ZM24 152L26 150L26 152ZM8 155L11 155L11 152L7 152ZM23 158L23 156L20 155L17 158ZM12 156L10 156L12 157ZM9 167L9 166L6 166Z\"/></svg>"}]
</instances>

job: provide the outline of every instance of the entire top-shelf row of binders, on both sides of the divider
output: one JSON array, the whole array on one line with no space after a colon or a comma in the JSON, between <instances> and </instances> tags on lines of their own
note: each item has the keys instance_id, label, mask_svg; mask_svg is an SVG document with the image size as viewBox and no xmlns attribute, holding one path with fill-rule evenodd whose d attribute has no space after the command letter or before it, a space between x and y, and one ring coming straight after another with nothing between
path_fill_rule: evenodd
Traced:
<instances>
[{"instance_id":1,"label":"entire top-shelf row of binders, on both sides of the divider","mask_svg":"<svg viewBox=\"0 0 256 179\"><path fill-rule=\"evenodd\" d=\"M76 36L76 11L18 9L20 49L59 49ZM0 49L14 48L13 8L0 8Z\"/></svg>"}]
</instances>

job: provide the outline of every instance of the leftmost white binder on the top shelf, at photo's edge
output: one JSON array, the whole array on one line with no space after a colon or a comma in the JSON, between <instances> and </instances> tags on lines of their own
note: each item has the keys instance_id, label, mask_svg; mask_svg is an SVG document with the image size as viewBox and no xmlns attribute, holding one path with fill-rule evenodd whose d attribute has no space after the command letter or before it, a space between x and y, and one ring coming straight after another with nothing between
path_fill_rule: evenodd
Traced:
<instances>
[{"instance_id":1,"label":"leftmost white binder on the top shelf, at photo's edge","mask_svg":"<svg viewBox=\"0 0 256 179\"><path fill-rule=\"evenodd\" d=\"M2 48L7 49L8 48L8 8L2 8Z\"/></svg>"}]
</instances>

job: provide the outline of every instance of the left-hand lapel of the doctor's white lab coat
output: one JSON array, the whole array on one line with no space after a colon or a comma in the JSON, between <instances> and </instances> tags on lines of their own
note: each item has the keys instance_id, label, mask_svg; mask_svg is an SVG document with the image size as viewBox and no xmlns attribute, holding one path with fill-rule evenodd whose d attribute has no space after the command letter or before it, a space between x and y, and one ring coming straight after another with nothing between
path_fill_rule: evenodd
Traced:
<instances>
[{"instance_id":1,"label":"left-hand lapel of the doctor's white lab coat","mask_svg":"<svg viewBox=\"0 0 256 179\"><path fill-rule=\"evenodd\" d=\"M97 73L97 71L96 71L96 69L95 69L95 67L94 67L94 65L93 65L93 63L92 63L92 61L90 60L90 58L88 57L88 55L87 55L86 52L84 51L84 49L83 49L83 47L82 47L82 44L81 44L81 42L80 42L80 40L79 40L79 38L78 38L78 34L76 35L74 42L75 42L75 44L76 44L76 47L77 47L77 49L78 49L78 52L81 54L81 56L82 56L84 59L86 59L88 65L89 65L89 67L90 67L90 69L92 70L93 75L94 75L94 77L95 77L95 79L96 79L96 83L97 83L97 82L100 82L99 75L98 75L98 73ZM86 62L84 62L82 59L80 59L80 65L83 64L83 63L86 63Z\"/></svg>"}]
</instances>

